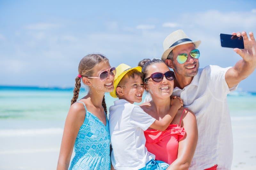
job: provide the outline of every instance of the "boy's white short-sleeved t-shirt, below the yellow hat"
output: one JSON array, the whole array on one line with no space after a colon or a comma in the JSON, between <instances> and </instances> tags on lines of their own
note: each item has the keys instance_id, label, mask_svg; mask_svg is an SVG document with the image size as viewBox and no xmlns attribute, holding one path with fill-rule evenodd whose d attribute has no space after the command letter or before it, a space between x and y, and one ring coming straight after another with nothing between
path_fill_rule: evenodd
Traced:
<instances>
[{"instance_id":1,"label":"boy's white short-sleeved t-shirt, below the yellow hat","mask_svg":"<svg viewBox=\"0 0 256 170\"><path fill-rule=\"evenodd\" d=\"M138 170L155 159L145 147L144 131L156 121L140 106L124 99L109 108L109 132L112 145L111 162L116 170Z\"/></svg>"}]
</instances>

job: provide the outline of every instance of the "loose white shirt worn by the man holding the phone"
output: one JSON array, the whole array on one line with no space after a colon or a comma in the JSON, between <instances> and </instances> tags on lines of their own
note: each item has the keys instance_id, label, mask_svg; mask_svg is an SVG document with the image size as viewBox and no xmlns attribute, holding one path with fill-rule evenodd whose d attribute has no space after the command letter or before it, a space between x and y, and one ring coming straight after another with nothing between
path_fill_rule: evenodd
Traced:
<instances>
[{"instance_id":1,"label":"loose white shirt worn by the man holding the phone","mask_svg":"<svg viewBox=\"0 0 256 170\"><path fill-rule=\"evenodd\" d=\"M200 68L192 82L184 89L176 87L174 96L180 96L184 106L196 114L198 142L189 170L206 169L218 164L218 170L231 169L233 137L227 94L237 88L228 88L227 68L206 66ZM150 101L150 94L145 98Z\"/></svg>"}]
</instances>

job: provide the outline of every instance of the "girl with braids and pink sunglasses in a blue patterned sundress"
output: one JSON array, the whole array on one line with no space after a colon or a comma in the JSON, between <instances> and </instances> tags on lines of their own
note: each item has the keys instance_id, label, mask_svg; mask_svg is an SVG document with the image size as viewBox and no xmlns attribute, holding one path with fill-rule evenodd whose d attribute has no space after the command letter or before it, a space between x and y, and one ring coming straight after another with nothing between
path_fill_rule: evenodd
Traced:
<instances>
[{"instance_id":1,"label":"girl with braids and pink sunglasses in a blue patterned sundress","mask_svg":"<svg viewBox=\"0 0 256 170\"><path fill-rule=\"evenodd\" d=\"M67 170L75 146L75 157L69 169L110 169L110 136L105 92L114 89L116 68L101 54L89 54L79 63L78 75L65 122L57 170ZM88 86L86 96L76 102L81 87Z\"/></svg>"}]
</instances>

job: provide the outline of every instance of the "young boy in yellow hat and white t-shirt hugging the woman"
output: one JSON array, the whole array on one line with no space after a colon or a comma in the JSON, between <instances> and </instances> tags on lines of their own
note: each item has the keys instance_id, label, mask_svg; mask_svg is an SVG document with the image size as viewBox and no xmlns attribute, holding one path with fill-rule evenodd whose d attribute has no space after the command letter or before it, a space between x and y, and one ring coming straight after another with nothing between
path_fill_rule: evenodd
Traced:
<instances>
[{"instance_id":1,"label":"young boy in yellow hat and white t-shirt hugging the woman","mask_svg":"<svg viewBox=\"0 0 256 170\"><path fill-rule=\"evenodd\" d=\"M166 169L168 164L155 161L155 155L145 147L144 131L148 128L164 131L172 122L173 117L182 103L172 99L169 113L158 121L144 112L140 106L144 92L141 67L130 67L120 64L116 67L114 91L112 97L119 100L109 108L109 132L112 145L111 162L119 169Z\"/></svg>"}]
</instances>

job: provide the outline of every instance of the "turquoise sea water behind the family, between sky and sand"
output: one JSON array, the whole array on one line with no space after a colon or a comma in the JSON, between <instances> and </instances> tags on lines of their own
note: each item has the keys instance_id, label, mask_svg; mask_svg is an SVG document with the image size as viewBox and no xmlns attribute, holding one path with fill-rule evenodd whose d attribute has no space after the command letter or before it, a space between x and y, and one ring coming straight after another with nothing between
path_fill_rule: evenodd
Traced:
<instances>
[{"instance_id":1,"label":"turquoise sea water behind the family, between sky and sand","mask_svg":"<svg viewBox=\"0 0 256 170\"><path fill-rule=\"evenodd\" d=\"M0 129L63 128L72 97L73 88L0 86ZM108 109L116 100L108 93L105 99ZM228 106L231 117L255 117L256 92L235 91L228 95Z\"/></svg>"}]
</instances>

